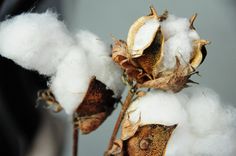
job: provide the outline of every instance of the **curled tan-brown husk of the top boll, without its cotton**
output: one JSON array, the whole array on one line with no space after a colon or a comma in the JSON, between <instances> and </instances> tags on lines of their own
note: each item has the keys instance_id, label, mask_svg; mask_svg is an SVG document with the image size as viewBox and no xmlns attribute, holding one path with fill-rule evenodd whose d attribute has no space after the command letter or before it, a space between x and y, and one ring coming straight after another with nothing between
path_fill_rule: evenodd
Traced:
<instances>
[{"instance_id":1,"label":"curled tan-brown husk of the top boll, without its cotton","mask_svg":"<svg viewBox=\"0 0 236 156\"><path fill-rule=\"evenodd\" d=\"M132 50L136 33L145 22L150 19L161 22L168 17L167 11L158 16L153 7L150 10L149 15L139 18L131 26L127 43L122 40L114 41L112 59L124 70L127 80L129 82L136 81L139 88L146 87L178 92L187 87L187 83L193 82L189 78L196 73L196 68L204 61L207 54L205 45L209 42L207 40L195 40L190 62L181 65L179 61L181 58L176 58L177 63L174 69L166 70L164 68L163 70L165 40L160 26L144 48ZM195 29L193 23L196 17L195 14L189 20L189 27L192 30Z\"/></svg>"}]
</instances>

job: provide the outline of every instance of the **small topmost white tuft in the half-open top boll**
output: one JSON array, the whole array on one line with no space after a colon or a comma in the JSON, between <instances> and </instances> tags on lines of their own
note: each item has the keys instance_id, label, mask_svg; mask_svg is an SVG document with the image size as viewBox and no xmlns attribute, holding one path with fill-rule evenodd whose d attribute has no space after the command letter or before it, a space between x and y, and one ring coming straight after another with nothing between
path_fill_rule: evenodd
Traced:
<instances>
[{"instance_id":1,"label":"small topmost white tuft in the half-open top boll","mask_svg":"<svg viewBox=\"0 0 236 156\"><path fill-rule=\"evenodd\" d=\"M174 15L169 15L166 20L161 23L162 32L165 39L176 35L179 32L186 32L189 30L189 21L187 18L180 18Z\"/></svg>"}]
</instances>

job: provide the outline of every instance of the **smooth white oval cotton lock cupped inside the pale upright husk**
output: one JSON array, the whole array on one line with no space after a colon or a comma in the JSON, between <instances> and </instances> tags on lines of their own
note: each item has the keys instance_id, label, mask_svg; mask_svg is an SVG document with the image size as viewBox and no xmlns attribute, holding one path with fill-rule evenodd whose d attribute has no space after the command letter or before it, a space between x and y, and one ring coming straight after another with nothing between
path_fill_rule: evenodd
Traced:
<instances>
[{"instance_id":1,"label":"smooth white oval cotton lock cupped inside the pale upright husk","mask_svg":"<svg viewBox=\"0 0 236 156\"><path fill-rule=\"evenodd\" d=\"M160 23L157 19L150 19L143 24L138 30L134 38L134 45L132 50L140 50L145 47L153 40L155 32L159 28Z\"/></svg>"}]
</instances>

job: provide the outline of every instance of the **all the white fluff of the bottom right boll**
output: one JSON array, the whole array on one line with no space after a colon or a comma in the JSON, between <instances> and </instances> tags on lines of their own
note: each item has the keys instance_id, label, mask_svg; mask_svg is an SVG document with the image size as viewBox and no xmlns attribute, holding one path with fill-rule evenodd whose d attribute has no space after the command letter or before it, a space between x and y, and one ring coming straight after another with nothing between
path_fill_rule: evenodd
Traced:
<instances>
[{"instance_id":1,"label":"all the white fluff of the bottom right boll","mask_svg":"<svg viewBox=\"0 0 236 156\"><path fill-rule=\"evenodd\" d=\"M178 124L167 156L236 155L236 109L223 105L211 89L193 87L178 94L152 91L133 102L128 112L133 123L141 115L141 125Z\"/></svg>"}]
</instances>

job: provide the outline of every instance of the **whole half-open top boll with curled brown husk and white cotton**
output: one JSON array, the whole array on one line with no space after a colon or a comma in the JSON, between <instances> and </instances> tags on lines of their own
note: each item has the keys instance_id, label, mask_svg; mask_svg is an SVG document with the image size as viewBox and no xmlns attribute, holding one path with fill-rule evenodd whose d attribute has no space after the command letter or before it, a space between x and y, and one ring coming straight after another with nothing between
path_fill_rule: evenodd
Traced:
<instances>
[{"instance_id":1,"label":"whole half-open top boll with curled brown husk and white cotton","mask_svg":"<svg viewBox=\"0 0 236 156\"><path fill-rule=\"evenodd\" d=\"M112 58L139 88L178 92L193 82L189 78L204 61L209 42L195 31L196 14L186 20L150 10L130 27L127 43L115 40Z\"/></svg>"}]
</instances>

